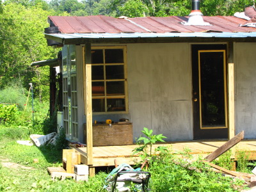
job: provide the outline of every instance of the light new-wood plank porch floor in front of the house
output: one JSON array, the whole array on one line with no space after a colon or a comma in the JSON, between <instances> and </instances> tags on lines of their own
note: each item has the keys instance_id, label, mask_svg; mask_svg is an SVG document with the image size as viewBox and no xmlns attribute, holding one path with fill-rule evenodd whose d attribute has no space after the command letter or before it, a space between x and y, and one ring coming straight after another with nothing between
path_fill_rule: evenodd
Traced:
<instances>
[{"instance_id":1,"label":"light new-wood plank porch floor in front of the house","mask_svg":"<svg viewBox=\"0 0 256 192\"><path fill-rule=\"evenodd\" d=\"M156 144L153 147L159 145L169 147L173 152L181 152L184 148L191 150L190 154L193 156L206 157L208 154L221 147L227 140L196 140L196 141L179 141L168 142L164 144ZM104 146L93 147L93 167L95 166L113 166L116 159L118 164L127 163L134 164L134 158L131 157L132 150L138 147L138 145L119 145L119 146ZM248 152L251 160L256 160L256 140L242 140L235 147L236 150L243 150ZM86 152L86 147L79 148ZM84 159L84 158L83 158ZM81 159L81 163L86 164L86 159ZM84 161L84 162L83 162Z\"/></svg>"}]
</instances>

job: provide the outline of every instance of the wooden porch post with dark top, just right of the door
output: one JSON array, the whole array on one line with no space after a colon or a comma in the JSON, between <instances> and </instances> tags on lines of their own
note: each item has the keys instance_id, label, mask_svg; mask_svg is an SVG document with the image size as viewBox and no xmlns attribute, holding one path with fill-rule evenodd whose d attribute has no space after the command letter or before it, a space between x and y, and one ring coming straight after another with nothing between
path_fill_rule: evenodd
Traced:
<instances>
[{"instance_id":1,"label":"wooden porch post with dark top, just right of the door","mask_svg":"<svg viewBox=\"0 0 256 192\"><path fill-rule=\"evenodd\" d=\"M228 44L228 139L235 136L234 45Z\"/></svg>"}]
</instances>

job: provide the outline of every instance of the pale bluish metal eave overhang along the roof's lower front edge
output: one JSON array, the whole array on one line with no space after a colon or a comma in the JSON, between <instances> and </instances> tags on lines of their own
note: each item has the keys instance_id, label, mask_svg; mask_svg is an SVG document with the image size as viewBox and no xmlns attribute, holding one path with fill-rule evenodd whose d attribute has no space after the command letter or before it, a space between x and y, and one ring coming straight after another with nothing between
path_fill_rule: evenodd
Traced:
<instances>
[{"instance_id":1,"label":"pale bluish metal eave overhang along the roof's lower front edge","mask_svg":"<svg viewBox=\"0 0 256 192\"><path fill-rule=\"evenodd\" d=\"M106 43L147 43L147 42L256 42L256 32L221 33L56 33L45 34L63 45L106 44Z\"/></svg>"}]
</instances>

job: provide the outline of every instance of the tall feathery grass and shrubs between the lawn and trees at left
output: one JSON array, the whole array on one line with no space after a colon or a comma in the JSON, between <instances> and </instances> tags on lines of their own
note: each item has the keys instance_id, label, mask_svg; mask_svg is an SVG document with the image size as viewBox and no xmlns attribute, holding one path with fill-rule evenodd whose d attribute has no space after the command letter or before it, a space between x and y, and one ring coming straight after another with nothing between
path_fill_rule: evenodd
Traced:
<instances>
[{"instance_id":1,"label":"tall feathery grass and shrubs between the lawn and trees at left","mask_svg":"<svg viewBox=\"0 0 256 192\"><path fill-rule=\"evenodd\" d=\"M57 129L56 116L49 116L49 101L40 102L35 98L33 99L32 108L31 94L28 90L22 88L19 83L10 84L10 86L0 90L0 103L16 104L19 109L15 114L13 113L12 121L2 120L0 122L2 125L11 126L13 129L19 127L17 130L20 127L27 129L28 134L49 134ZM10 115L10 112L8 115Z\"/></svg>"}]
</instances>

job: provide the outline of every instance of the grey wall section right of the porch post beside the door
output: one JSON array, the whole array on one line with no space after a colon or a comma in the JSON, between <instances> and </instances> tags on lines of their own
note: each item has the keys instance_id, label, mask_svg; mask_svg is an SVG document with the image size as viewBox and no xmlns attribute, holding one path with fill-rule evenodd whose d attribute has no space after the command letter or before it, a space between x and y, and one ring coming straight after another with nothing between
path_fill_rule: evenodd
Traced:
<instances>
[{"instance_id":1,"label":"grey wall section right of the porch post beside the door","mask_svg":"<svg viewBox=\"0 0 256 192\"><path fill-rule=\"evenodd\" d=\"M236 43L236 133L256 138L256 62L255 43Z\"/></svg>"}]
</instances>

